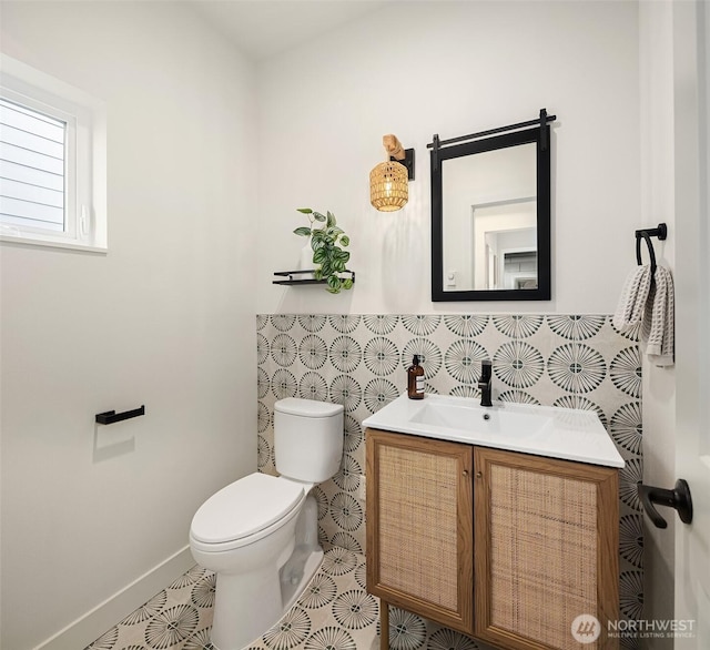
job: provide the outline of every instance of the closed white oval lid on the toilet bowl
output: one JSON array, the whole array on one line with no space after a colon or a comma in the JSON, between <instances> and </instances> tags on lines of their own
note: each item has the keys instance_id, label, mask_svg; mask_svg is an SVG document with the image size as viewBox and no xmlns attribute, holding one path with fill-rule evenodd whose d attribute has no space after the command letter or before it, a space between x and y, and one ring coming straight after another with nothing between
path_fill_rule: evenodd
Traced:
<instances>
[{"instance_id":1,"label":"closed white oval lid on the toilet bowl","mask_svg":"<svg viewBox=\"0 0 710 650\"><path fill-rule=\"evenodd\" d=\"M195 512L191 535L204 544L233 541L267 528L303 499L303 486L250 474L212 495Z\"/></svg>"}]
</instances>

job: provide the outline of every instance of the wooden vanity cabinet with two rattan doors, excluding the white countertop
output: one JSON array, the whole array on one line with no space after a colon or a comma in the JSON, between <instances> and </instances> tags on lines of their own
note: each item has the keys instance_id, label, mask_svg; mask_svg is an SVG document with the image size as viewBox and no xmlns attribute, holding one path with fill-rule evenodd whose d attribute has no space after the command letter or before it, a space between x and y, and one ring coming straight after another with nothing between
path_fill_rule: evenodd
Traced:
<instances>
[{"instance_id":1,"label":"wooden vanity cabinet with two rattan doors, excluding the white countertop","mask_svg":"<svg viewBox=\"0 0 710 650\"><path fill-rule=\"evenodd\" d=\"M592 615L585 648L617 648L617 469L376 429L366 454L381 648L388 603L505 650L578 649Z\"/></svg>"}]
</instances>

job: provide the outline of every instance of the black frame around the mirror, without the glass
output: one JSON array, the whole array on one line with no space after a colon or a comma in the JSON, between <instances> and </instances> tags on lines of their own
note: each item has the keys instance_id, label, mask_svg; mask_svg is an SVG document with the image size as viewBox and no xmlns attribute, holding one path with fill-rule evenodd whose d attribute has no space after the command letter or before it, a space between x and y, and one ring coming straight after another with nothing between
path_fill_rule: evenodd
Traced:
<instances>
[{"instance_id":1,"label":"black frame around the mirror, without the glass","mask_svg":"<svg viewBox=\"0 0 710 650\"><path fill-rule=\"evenodd\" d=\"M443 161L508 146L537 143L537 288L444 291ZM549 301L551 299L550 128L527 129L443 146L432 160L432 301ZM438 159L438 160L437 160Z\"/></svg>"}]
</instances>

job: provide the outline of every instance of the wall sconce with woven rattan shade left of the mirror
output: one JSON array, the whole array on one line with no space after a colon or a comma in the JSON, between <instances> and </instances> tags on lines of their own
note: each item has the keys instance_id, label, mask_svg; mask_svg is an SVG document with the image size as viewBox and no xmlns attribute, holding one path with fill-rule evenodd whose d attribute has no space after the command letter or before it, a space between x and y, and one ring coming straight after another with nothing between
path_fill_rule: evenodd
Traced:
<instances>
[{"instance_id":1,"label":"wall sconce with woven rattan shade left of the mirror","mask_svg":"<svg viewBox=\"0 0 710 650\"><path fill-rule=\"evenodd\" d=\"M408 182L414 180L414 149L405 150L396 135L383 135L387 160L369 172L369 202L379 212L394 212L407 204Z\"/></svg>"}]
</instances>

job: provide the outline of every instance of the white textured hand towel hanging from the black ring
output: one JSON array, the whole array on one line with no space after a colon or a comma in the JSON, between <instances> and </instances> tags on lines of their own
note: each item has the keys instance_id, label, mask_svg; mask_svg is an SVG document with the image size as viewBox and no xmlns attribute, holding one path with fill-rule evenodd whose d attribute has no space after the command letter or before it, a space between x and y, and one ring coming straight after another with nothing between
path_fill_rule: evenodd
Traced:
<instances>
[{"instance_id":1,"label":"white textured hand towel hanging from the black ring","mask_svg":"<svg viewBox=\"0 0 710 650\"><path fill-rule=\"evenodd\" d=\"M649 360L657 366L672 366L676 324L670 271L657 266L651 282L650 266L635 268L623 285L612 322L619 332L628 332L640 323L641 344Z\"/></svg>"}]
</instances>

